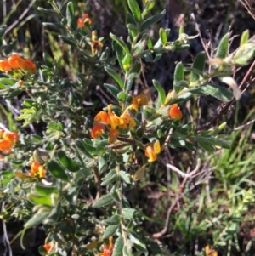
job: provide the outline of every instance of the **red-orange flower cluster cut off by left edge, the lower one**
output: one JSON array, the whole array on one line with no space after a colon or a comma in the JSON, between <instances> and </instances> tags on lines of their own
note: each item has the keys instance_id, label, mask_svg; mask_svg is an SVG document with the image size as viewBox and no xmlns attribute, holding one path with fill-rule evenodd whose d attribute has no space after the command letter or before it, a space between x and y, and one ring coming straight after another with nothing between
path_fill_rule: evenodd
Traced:
<instances>
[{"instance_id":1,"label":"red-orange flower cluster cut off by left edge, the lower one","mask_svg":"<svg viewBox=\"0 0 255 256\"><path fill-rule=\"evenodd\" d=\"M0 151L2 151L5 155L9 155L11 153L11 149L17 143L18 139L19 135L17 133L8 133L3 129L0 129ZM3 158L2 155L0 155L0 159L1 158Z\"/></svg>"}]
</instances>

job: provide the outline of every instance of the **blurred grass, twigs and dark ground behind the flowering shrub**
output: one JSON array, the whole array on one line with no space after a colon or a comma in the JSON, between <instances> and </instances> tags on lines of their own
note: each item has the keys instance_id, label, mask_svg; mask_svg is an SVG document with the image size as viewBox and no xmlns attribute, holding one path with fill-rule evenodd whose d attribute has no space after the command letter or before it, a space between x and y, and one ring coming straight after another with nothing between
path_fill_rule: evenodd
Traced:
<instances>
[{"instance_id":1,"label":"blurred grass, twigs and dark ground behind the flowering shrub","mask_svg":"<svg viewBox=\"0 0 255 256\"><path fill-rule=\"evenodd\" d=\"M104 49L108 47L112 56L110 32L126 39L128 36L125 26L127 2L72 2L76 18L87 13L94 23L98 24L98 36L105 38ZM85 72L86 66L79 59L78 52L59 39L57 30L49 30L47 26L42 25L42 22L59 23L59 17L40 12L38 7L48 9L50 4L47 1L26 0L1 3L0 20L2 25L7 25L4 43L12 42L16 52L35 62L43 62L43 53L48 53L50 58L56 61L58 77L61 77L63 82L79 82L77 73ZM164 54L161 60L153 64L143 63L143 72L135 79L133 92L141 93L145 90L154 100L156 91L152 86L152 79L160 82L166 92L173 89L173 74L178 61L190 65L202 50L209 59L228 31L229 52L238 48L243 31L249 30L250 35L254 34L255 20L238 1L158 0L152 13L159 13L161 9L166 9L165 16L150 28L150 36L155 37L155 42L160 27L171 28L168 37L170 41L178 38L179 26L184 26L184 31L188 35L199 34L199 37L191 40L190 48L184 52ZM2 53L1 57L6 56ZM198 175L192 179L185 178L156 162L146 170L139 182L134 183L132 189L127 187L128 202L132 208L139 210L139 223L136 225L142 227L141 230L144 232L140 236L145 236L146 241L148 240L146 245L149 247L149 255L205 255L205 247L208 245L213 246L218 255L254 255L255 88L253 71L248 72L251 66L253 64L234 71L235 81L238 84L243 82L244 93L241 100L228 105L211 96L196 96L180 105L184 115L182 122L193 122L196 132L205 128L217 128L219 124L226 122L223 133L229 136L230 149L219 148L211 154L201 148L188 151L173 146L161 162L170 162L186 173L198 168ZM244 79L247 72L249 77ZM89 80L82 106L88 115L88 123L76 123L77 127L84 128L82 135L89 134L86 128L92 127L95 114L111 104L111 94L102 87L102 84L112 81L106 72L97 73ZM9 130L23 134L24 137L21 139L25 142L31 135L34 138L43 137L47 134L48 128L47 122L42 120L32 122L25 128L22 127L22 121L17 121L26 96L26 93L22 93L13 99L0 98L0 122ZM52 137L54 136L56 134L52 134ZM71 136L79 138L77 134ZM37 149L36 146L30 146L27 145L27 157ZM0 168L3 164L0 162ZM14 168L15 162L10 169ZM132 174L132 170L130 172ZM6 177L2 176L2 185L3 179ZM91 187L82 187L84 191L88 189L91 194L84 193L87 196L84 198L86 203L90 203L93 201L91 198L97 196L97 188L93 182ZM11 255L4 230L8 230L11 240L22 230L24 223L14 218L17 217L14 213L12 216L5 215L8 213L8 199L3 193L4 191L1 191L1 198L6 202L3 202L2 218L7 218L8 222L3 222L2 225L0 254ZM12 244L13 255L39 255L38 247L45 243L46 235L41 226L27 231L24 236L26 251L22 250L17 239Z\"/></svg>"}]
</instances>

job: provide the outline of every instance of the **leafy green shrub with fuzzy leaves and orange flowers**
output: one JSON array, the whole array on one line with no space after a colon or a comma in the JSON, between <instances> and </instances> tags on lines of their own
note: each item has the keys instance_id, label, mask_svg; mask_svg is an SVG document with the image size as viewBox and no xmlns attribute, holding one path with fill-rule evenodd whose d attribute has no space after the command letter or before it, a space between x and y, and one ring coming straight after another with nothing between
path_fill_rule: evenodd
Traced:
<instances>
[{"instance_id":1,"label":"leafy green shrub with fuzzy leaves and orange flowers","mask_svg":"<svg viewBox=\"0 0 255 256\"><path fill-rule=\"evenodd\" d=\"M183 103L193 95L239 100L241 90L231 77L232 68L253 58L254 42L246 38L229 54L226 34L212 60L201 52L190 67L182 62L176 65L171 91L152 80L155 99L148 88L134 93L143 63L153 64L165 53L188 49L196 36L185 34L180 27L178 38L169 42L170 30L161 28L154 42L149 29L165 11L152 15L153 0L144 1L142 7L127 0L128 36L122 39L111 33L113 54L109 55L89 14L75 17L72 2L48 3L51 9L39 10L61 21L44 26L59 31L59 39L79 56L80 70L72 74L76 79L63 79L58 75L58 60L49 54L44 53L40 63L10 54L1 44L5 54L0 60L1 95L6 99L26 95L20 97L23 102L17 118L24 127L42 121L47 125L42 137L20 134L19 142L16 134L0 131L0 196L8 202L1 217L24 221L21 243L26 230L42 225L47 236L39 248L42 255L165 255L164 248L144 234L139 205L131 206L126 193L133 191L156 162L168 164L163 160L168 148L195 151L200 147L209 153L229 148L228 138L219 134L224 123L196 128L184 118ZM1 27L2 40L5 29ZM103 72L111 83L99 84ZM111 102L94 113L84 101L90 99L96 79L111 95ZM167 167L178 170L170 164ZM180 170L178 174L185 176Z\"/></svg>"}]
</instances>

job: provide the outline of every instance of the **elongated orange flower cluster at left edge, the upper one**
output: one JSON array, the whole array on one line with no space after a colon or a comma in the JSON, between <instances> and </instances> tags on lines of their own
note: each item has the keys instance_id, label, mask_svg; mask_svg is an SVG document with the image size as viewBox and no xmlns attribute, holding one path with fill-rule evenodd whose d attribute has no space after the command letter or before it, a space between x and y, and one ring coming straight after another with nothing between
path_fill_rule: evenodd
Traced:
<instances>
[{"instance_id":1,"label":"elongated orange flower cluster at left edge, the upper one","mask_svg":"<svg viewBox=\"0 0 255 256\"><path fill-rule=\"evenodd\" d=\"M31 60L25 60L19 54L12 54L8 60L0 60L0 71L23 71L34 74L37 66Z\"/></svg>"}]
</instances>

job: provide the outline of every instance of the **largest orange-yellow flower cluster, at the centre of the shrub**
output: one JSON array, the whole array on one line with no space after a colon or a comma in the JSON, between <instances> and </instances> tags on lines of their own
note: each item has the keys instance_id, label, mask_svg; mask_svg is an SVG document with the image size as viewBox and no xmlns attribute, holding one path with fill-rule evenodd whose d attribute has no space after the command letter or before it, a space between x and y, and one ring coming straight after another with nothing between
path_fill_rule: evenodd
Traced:
<instances>
[{"instance_id":1,"label":"largest orange-yellow flower cluster, at the centre of the shrub","mask_svg":"<svg viewBox=\"0 0 255 256\"><path fill-rule=\"evenodd\" d=\"M112 104L108 105L108 112L100 111L94 117L95 125L91 130L91 137L98 139L101 134L107 131L109 134L109 143L114 143L120 135L118 128L133 130L136 127L136 122L129 113L129 110L138 111L140 106L148 104L148 100L148 96L144 94L133 96L132 104L123 111L120 117L111 111Z\"/></svg>"}]
</instances>

